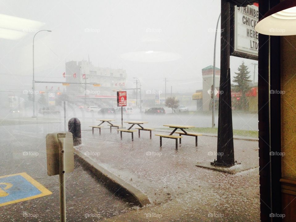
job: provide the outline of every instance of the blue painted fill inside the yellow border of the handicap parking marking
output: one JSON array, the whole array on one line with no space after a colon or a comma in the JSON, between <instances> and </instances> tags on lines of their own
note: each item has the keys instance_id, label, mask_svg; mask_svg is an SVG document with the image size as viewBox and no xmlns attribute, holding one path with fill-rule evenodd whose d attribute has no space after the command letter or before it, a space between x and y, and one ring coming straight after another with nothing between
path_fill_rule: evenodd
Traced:
<instances>
[{"instance_id":1,"label":"blue painted fill inside the yellow border of the handicap parking marking","mask_svg":"<svg viewBox=\"0 0 296 222\"><path fill-rule=\"evenodd\" d=\"M41 194L41 191L39 191L21 175L0 178L0 183L12 184L11 188L5 190L5 192L9 195L1 197L0 204ZM0 187L3 190L5 186L0 184Z\"/></svg>"}]
</instances>

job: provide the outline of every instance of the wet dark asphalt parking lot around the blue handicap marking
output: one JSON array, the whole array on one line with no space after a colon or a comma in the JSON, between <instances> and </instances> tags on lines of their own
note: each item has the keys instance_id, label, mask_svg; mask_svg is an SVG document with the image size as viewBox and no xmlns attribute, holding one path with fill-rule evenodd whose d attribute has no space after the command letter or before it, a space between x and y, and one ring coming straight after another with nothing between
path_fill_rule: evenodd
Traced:
<instances>
[{"instance_id":1,"label":"wet dark asphalt parking lot around the blue handicap marking","mask_svg":"<svg viewBox=\"0 0 296 222\"><path fill-rule=\"evenodd\" d=\"M0 206L0 221L60 221L59 176L47 175L45 135L63 127L58 124L0 127L0 176L26 172L52 192ZM66 206L68 221L104 220L133 208L77 161L74 172L66 174Z\"/></svg>"}]
</instances>

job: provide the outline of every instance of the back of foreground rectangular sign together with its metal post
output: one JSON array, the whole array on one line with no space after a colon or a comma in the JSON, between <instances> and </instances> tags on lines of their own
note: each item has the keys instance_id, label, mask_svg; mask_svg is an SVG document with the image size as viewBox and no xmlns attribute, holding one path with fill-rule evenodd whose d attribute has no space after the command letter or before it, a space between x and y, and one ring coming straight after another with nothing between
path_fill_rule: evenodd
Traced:
<instances>
[{"instance_id":1,"label":"back of foreground rectangular sign together with its metal post","mask_svg":"<svg viewBox=\"0 0 296 222\"><path fill-rule=\"evenodd\" d=\"M72 133L46 135L47 175L60 177L60 221L66 222L65 173L74 171L74 148Z\"/></svg>"}]
</instances>

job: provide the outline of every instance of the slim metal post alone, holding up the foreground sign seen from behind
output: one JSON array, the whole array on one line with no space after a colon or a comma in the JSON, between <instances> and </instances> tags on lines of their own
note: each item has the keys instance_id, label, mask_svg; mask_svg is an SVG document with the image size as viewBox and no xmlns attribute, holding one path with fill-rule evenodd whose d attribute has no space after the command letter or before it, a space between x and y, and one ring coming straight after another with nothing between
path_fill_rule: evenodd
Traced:
<instances>
[{"instance_id":1,"label":"slim metal post alone, holding up the foreground sign seen from behind","mask_svg":"<svg viewBox=\"0 0 296 222\"><path fill-rule=\"evenodd\" d=\"M60 221L66 222L66 187L65 187L65 163L64 163L64 147L59 152L59 169L60 169Z\"/></svg>"}]
</instances>

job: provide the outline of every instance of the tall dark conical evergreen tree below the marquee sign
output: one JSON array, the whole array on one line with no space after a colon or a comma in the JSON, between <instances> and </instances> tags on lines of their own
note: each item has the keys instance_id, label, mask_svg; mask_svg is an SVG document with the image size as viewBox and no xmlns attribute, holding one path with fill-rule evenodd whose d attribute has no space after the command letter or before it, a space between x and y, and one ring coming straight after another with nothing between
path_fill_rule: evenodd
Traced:
<instances>
[{"instance_id":1,"label":"tall dark conical evergreen tree below the marquee sign","mask_svg":"<svg viewBox=\"0 0 296 222\"><path fill-rule=\"evenodd\" d=\"M239 72L235 72L236 76L234 76L233 80L233 82L236 83L236 85L234 85L234 90L236 92L241 92L241 97L238 100L238 106L242 110L247 110L248 108L246 93L251 89L249 82L252 82L252 80L250 80L250 71L248 71L248 69L249 68L245 65L245 63L242 62L237 69Z\"/></svg>"}]
</instances>

